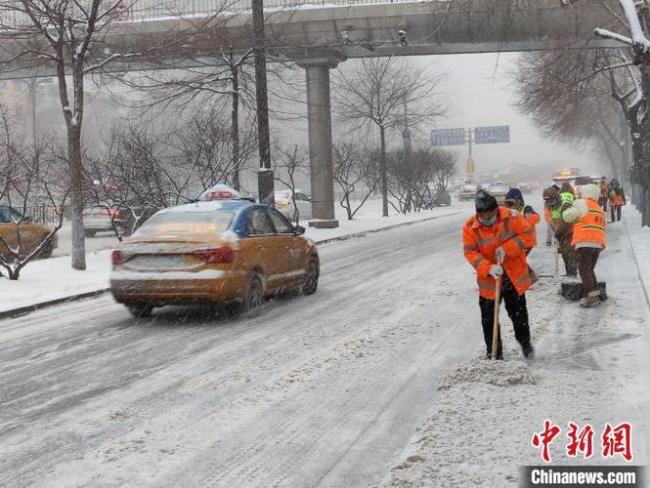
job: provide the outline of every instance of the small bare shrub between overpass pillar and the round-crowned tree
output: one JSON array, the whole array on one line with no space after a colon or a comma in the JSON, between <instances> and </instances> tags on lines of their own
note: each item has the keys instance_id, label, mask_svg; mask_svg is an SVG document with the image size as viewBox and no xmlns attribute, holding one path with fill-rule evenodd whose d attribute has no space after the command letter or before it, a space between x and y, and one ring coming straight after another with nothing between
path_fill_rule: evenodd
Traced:
<instances>
[{"instance_id":1,"label":"small bare shrub between overpass pillar and the round-crowned tree","mask_svg":"<svg viewBox=\"0 0 650 488\"><path fill-rule=\"evenodd\" d=\"M359 145L344 142L334 146L334 181L341 189L340 204L352 220L377 188L377 172L372 153ZM361 193L353 204L353 197Z\"/></svg>"}]
</instances>

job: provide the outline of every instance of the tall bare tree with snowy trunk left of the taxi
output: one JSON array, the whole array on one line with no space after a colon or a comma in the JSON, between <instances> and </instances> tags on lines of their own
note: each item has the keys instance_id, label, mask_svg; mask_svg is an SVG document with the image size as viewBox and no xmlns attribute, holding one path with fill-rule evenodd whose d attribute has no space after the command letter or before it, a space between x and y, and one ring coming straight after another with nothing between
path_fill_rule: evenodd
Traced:
<instances>
[{"instance_id":1,"label":"tall bare tree with snowy trunk left of the taxi","mask_svg":"<svg viewBox=\"0 0 650 488\"><path fill-rule=\"evenodd\" d=\"M126 54L104 53L103 36L123 8L123 0L2 0L4 19L15 19L0 37L11 42L15 55L4 69L53 66L67 132L67 159L72 182L72 267L86 268L83 230L84 168L81 132L85 77Z\"/></svg>"}]
</instances>

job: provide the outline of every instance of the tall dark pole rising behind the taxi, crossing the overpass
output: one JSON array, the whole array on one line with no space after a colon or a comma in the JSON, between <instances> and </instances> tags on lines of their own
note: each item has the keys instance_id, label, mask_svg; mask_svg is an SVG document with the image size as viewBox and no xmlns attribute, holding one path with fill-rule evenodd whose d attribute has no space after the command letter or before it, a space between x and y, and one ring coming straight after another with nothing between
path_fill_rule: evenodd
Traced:
<instances>
[{"instance_id":1,"label":"tall dark pole rising behind the taxi, crossing the overpass","mask_svg":"<svg viewBox=\"0 0 650 488\"><path fill-rule=\"evenodd\" d=\"M263 0L252 1L253 40L255 46L255 101L257 105L257 144L260 168L257 176L259 201L273 204L273 170L269 134L269 101L266 86L266 49Z\"/></svg>"}]
</instances>

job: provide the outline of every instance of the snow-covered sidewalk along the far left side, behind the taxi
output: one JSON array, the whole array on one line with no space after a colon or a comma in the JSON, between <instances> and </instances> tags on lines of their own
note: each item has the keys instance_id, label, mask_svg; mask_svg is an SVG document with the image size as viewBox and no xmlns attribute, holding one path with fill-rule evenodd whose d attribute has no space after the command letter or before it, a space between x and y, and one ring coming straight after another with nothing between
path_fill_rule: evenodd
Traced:
<instances>
[{"instance_id":1,"label":"snow-covered sidewalk along the far left side, behind the taxi","mask_svg":"<svg viewBox=\"0 0 650 488\"><path fill-rule=\"evenodd\" d=\"M442 207L407 215L392 211L390 217L382 218L379 216L377 202L371 201L368 202L367 209L364 207L364 213L352 221L340 220L340 226L336 229L315 229L306 223L302 225L305 225L308 237L316 243L324 244L395 226L456 215L461 211L466 211L466 208ZM344 216L337 217L342 219ZM107 290L111 270L110 253L108 249L88 253L86 271L72 270L70 257L61 256L29 263L18 281L0 278L0 316Z\"/></svg>"}]
</instances>

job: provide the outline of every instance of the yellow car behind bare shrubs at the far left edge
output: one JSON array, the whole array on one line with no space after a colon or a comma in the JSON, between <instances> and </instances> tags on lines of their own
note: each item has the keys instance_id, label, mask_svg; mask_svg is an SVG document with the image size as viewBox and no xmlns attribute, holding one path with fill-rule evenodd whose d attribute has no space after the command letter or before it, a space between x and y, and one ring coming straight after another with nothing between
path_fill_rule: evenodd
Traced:
<instances>
[{"instance_id":1,"label":"yellow car behind bare shrubs at the far left edge","mask_svg":"<svg viewBox=\"0 0 650 488\"><path fill-rule=\"evenodd\" d=\"M12 248L18 246L18 235L20 235L21 255L26 256L33 252L51 231L52 229L47 225L34 222L29 217L23 217L20 211L0 203L0 235ZM38 257L49 258L57 247L58 239L55 234L50 242L43 247ZM9 249L2 242L0 242L0 255L3 258L10 256Z\"/></svg>"}]
</instances>

